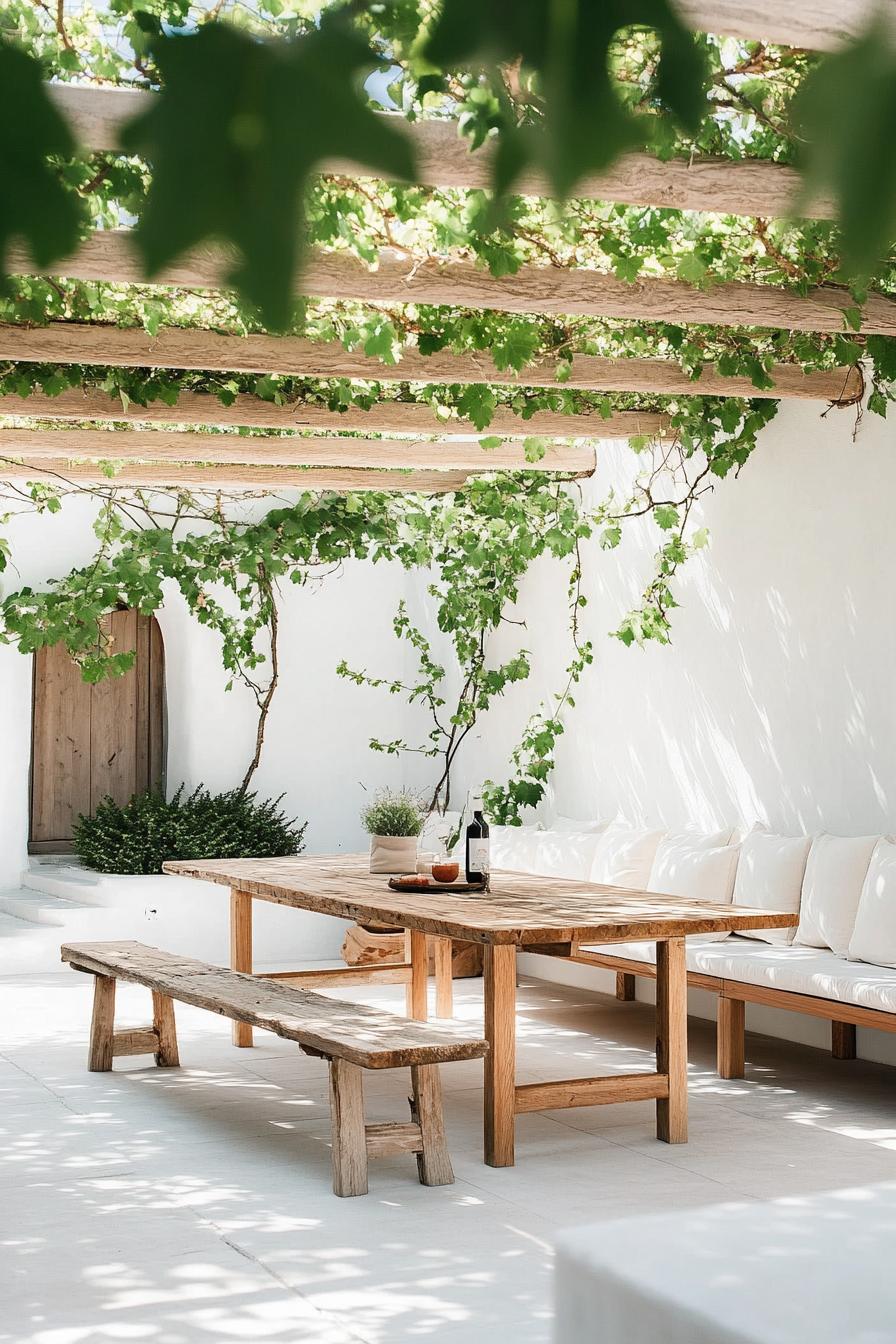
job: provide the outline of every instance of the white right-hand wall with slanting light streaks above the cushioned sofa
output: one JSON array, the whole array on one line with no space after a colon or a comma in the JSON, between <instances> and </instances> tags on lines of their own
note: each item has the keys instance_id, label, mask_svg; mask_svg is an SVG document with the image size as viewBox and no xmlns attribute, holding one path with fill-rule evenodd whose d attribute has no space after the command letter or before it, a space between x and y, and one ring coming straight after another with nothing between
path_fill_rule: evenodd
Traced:
<instances>
[{"instance_id":1,"label":"white right-hand wall with slanting light streaks above the cushioned sofa","mask_svg":"<svg viewBox=\"0 0 896 1344\"><path fill-rule=\"evenodd\" d=\"M571 816L715 827L887 832L896 810L896 560L888 499L896 488L884 422L860 448L842 418L787 407L740 480L720 482L695 526L711 546L676 581L673 644L626 649L607 637L637 603L660 534L635 524L586 559L596 660L560 741L552 800ZM604 444L592 499L631 470ZM562 684L567 642L556 564L529 577L520 603L533 650L527 692L508 696L481 735L489 769L536 694ZM514 632L516 634L517 632Z\"/></svg>"}]
</instances>

